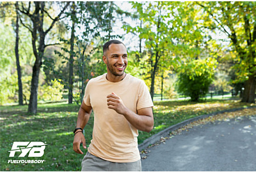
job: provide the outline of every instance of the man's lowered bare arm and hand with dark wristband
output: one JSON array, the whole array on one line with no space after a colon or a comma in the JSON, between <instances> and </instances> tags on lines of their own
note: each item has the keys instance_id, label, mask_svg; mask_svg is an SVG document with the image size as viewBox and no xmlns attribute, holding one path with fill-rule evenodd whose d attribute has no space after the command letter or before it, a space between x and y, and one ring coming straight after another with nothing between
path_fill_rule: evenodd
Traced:
<instances>
[{"instance_id":1,"label":"man's lowered bare arm and hand with dark wristband","mask_svg":"<svg viewBox=\"0 0 256 172\"><path fill-rule=\"evenodd\" d=\"M92 113L92 106L87 106L83 101L82 104L81 104L81 107L78 111L76 127L83 129L84 126L87 124L91 113ZM81 130L77 130L77 131L81 131ZM76 133L77 133L77 131L76 131ZM77 152L78 154L84 154L80 150L80 143L83 143L83 147L86 148L85 138L84 138L84 135L83 135L82 132L78 132L74 136L73 150L75 152Z\"/></svg>"}]
</instances>

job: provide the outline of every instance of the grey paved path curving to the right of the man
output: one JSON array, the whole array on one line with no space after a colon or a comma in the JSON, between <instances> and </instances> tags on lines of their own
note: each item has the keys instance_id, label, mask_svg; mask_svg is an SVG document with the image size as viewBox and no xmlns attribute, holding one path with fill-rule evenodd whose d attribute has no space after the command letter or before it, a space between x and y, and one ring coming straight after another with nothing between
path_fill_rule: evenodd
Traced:
<instances>
[{"instance_id":1,"label":"grey paved path curving to the right of the man","mask_svg":"<svg viewBox=\"0 0 256 172\"><path fill-rule=\"evenodd\" d=\"M142 171L256 171L256 115L199 125L148 150Z\"/></svg>"}]
</instances>

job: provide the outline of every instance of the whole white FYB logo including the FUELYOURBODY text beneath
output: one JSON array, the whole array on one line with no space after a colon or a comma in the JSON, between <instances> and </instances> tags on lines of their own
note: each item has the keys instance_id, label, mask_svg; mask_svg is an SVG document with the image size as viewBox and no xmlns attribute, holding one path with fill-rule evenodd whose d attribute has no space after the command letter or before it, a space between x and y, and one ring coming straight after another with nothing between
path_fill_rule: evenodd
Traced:
<instances>
[{"instance_id":1,"label":"whole white FYB logo including the FUELYOURBODY text beneath","mask_svg":"<svg viewBox=\"0 0 256 172\"><path fill-rule=\"evenodd\" d=\"M14 157L16 152L21 152L19 157L42 157L44 155L45 144L42 141L14 141L9 157ZM24 163L25 160L8 160L8 163ZM25 163L43 163L44 160L26 160Z\"/></svg>"}]
</instances>

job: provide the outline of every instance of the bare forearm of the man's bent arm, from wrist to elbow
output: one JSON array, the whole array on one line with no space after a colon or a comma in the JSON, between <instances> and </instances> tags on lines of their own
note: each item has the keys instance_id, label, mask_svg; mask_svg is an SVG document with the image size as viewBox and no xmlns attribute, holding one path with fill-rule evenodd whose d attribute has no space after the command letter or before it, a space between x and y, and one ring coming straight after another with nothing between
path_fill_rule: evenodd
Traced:
<instances>
[{"instance_id":1,"label":"bare forearm of the man's bent arm, from wrist to elbow","mask_svg":"<svg viewBox=\"0 0 256 172\"><path fill-rule=\"evenodd\" d=\"M127 110L124 117L138 130L150 132L154 127L154 118L147 115L138 115L133 111Z\"/></svg>"}]
</instances>

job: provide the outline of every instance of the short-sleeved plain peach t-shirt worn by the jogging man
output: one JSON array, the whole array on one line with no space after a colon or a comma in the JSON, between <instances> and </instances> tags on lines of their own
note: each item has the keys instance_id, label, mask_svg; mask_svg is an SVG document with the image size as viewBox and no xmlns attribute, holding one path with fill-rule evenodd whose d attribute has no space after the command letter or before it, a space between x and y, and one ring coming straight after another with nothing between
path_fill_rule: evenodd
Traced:
<instances>
[{"instance_id":1,"label":"short-sleeved plain peach t-shirt worn by the jogging man","mask_svg":"<svg viewBox=\"0 0 256 172\"><path fill-rule=\"evenodd\" d=\"M84 93L84 103L94 111L93 139L88 152L111 162L138 161L138 130L123 115L108 108L107 96L111 92L115 92L134 113L154 106L143 80L127 74L120 82L109 82L106 73L92 78Z\"/></svg>"}]
</instances>

